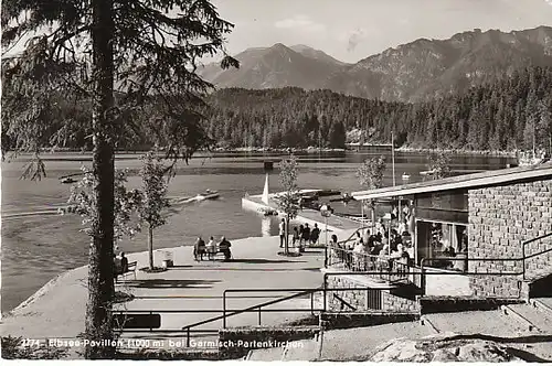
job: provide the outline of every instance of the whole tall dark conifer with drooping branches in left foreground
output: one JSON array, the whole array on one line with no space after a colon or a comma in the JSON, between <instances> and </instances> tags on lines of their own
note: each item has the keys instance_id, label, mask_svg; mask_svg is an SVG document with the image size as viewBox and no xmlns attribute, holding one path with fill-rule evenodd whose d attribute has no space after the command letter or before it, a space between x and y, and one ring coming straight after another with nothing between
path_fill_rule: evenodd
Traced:
<instances>
[{"instance_id":1,"label":"whole tall dark conifer with drooping branches in left foreground","mask_svg":"<svg viewBox=\"0 0 552 366\"><path fill-rule=\"evenodd\" d=\"M94 218L85 357L112 358L115 348L104 344L114 336L114 151L121 131L131 126L128 116L140 112L151 98L162 117L151 121L159 125L156 131L166 133L168 155L188 159L201 148L206 139L198 106L211 85L195 74L197 66L203 56L224 52L224 34L233 24L209 0L4 0L1 25L3 46L31 37L21 54L2 60L2 94L19 100L19 107L2 106L2 114L12 109L6 114L12 118L2 118L10 147L38 155L41 148L52 147L51 137L64 142L83 128L56 119L52 95L92 100ZM237 62L225 56L221 66ZM40 172L43 165L35 161Z\"/></svg>"}]
</instances>

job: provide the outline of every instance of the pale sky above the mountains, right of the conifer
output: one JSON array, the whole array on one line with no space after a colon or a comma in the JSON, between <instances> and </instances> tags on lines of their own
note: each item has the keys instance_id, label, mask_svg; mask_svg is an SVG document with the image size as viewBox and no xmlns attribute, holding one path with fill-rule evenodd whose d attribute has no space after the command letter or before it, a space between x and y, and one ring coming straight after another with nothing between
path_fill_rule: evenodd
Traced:
<instances>
[{"instance_id":1,"label":"pale sky above the mountains, right of the conifer","mask_svg":"<svg viewBox=\"0 0 552 366\"><path fill-rule=\"evenodd\" d=\"M420 37L552 26L552 0L213 0L226 49L306 44L349 63Z\"/></svg>"}]
</instances>

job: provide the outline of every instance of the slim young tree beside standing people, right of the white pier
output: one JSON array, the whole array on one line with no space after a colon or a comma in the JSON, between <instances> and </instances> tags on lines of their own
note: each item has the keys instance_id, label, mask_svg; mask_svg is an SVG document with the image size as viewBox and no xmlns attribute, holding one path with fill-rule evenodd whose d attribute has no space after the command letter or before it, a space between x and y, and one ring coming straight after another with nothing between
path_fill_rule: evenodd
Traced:
<instances>
[{"instance_id":1,"label":"slim young tree beside standing people, right of the white pier","mask_svg":"<svg viewBox=\"0 0 552 366\"><path fill-rule=\"evenodd\" d=\"M297 189L297 159L290 155L280 162L279 182L284 192L276 198L278 207L286 214L286 246L284 252L289 254L289 220L299 212L299 190Z\"/></svg>"}]
</instances>

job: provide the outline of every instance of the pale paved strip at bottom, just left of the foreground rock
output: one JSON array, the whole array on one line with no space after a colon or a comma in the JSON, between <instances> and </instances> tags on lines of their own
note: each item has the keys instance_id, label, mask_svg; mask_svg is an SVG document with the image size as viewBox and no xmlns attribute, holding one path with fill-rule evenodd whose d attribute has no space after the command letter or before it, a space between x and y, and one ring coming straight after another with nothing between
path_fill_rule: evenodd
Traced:
<instances>
[{"instance_id":1,"label":"pale paved strip at bottom, just left of the foreground rock","mask_svg":"<svg viewBox=\"0 0 552 366\"><path fill-rule=\"evenodd\" d=\"M383 342L422 337L433 331L418 321L323 332L320 360L348 360L372 352Z\"/></svg>"}]
</instances>

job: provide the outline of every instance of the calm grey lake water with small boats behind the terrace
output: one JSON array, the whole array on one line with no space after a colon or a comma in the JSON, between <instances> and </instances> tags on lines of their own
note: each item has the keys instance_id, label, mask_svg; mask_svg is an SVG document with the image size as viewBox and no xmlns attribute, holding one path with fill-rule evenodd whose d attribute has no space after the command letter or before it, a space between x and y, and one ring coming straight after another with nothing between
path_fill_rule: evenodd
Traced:
<instances>
[{"instance_id":1,"label":"calm grey lake water with small boats behind the terrace","mask_svg":"<svg viewBox=\"0 0 552 366\"><path fill-rule=\"evenodd\" d=\"M355 172L360 163L370 157L388 155L384 185L392 184L389 151L297 153L300 189L333 189L342 192L360 191ZM167 225L155 232L156 248L192 245L195 237L226 236L230 240L244 237L277 235L277 218L243 211L241 198L245 193L261 194L264 186L263 160L278 159L287 154L212 153L198 155L188 165L179 163L177 175L169 186L170 196L193 196L205 189L216 190L221 197L187 205L170 216ZM79 217L10 215L43 211L64 205L70 184L61 184L60 176L79 171L89 157L81 154L45 154L47 177L40 182L20 180L23 163L2 163L2 312L15 308L32 295L50 279L61 272L87 262L89 239L81 232ZM506 168L512 158L488 155L457 155L455 170L489 170ZM399 152L395 154L396 182L403 173L411 174L411 182L421 181L420 171L426 170L426 154ZM117 169L129 169L129 186L140 184L136 172L140 168L136 155L120 155ZM278 166L270 173L270 192L280 190ZM337 211L360 213L357 203L335 204ZM144 234L119 244L126 252L147 250ZM177 259L178 260L178 259Z\"/></svg>"}]
</instances>

